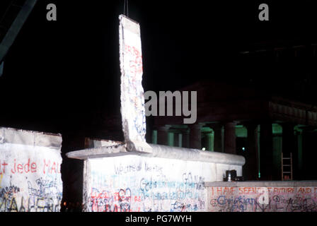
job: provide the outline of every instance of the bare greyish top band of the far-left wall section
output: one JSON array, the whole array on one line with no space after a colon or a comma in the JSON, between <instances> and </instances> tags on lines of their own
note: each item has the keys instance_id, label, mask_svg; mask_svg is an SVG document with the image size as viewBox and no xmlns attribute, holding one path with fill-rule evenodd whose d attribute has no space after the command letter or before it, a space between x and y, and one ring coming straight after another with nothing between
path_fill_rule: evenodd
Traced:
<instances>
[{"instance_id":1,"label":"bare greyish top band of the far-left wall section","mask_svg":"<svg viewBox=\"0 0 317 226\"><path fill-rule=\"evenodd\" d=\"M1 143L16 143L60 149L62 148L62 135L0 127Z\"/></svg>"}]
</instances>

